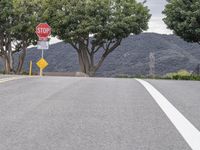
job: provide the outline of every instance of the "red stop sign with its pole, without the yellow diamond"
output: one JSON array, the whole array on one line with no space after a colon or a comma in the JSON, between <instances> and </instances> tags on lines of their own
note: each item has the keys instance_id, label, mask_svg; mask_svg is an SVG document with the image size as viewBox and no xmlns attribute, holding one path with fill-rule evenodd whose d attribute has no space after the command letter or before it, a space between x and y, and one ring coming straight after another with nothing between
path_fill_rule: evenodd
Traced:
<instances>
[{"instance_id":1,"label":"red stop sign with its pole, without the yellow diamond","mask_svg":"<svg viewBox=\"0 0 200 150\"><path fill-rule=\"evenodd\" d=\"M47 23L40 23L39 25L37 25L35 33L37 34L37 36L39 38L38 44L43 43L43 46L45 46L46 43L48 42L48 37L51 35L51 27ZM43 46L42 46L42 44L40 45L41 50L42 50L42 55L41 55L40 61L41 60L45 61L44 49L48 49L48 46L47 46L47 48L44 48ZM40 67L40 76L43 75L43 69L44 68Z\"/></svg>"}]
</instances>

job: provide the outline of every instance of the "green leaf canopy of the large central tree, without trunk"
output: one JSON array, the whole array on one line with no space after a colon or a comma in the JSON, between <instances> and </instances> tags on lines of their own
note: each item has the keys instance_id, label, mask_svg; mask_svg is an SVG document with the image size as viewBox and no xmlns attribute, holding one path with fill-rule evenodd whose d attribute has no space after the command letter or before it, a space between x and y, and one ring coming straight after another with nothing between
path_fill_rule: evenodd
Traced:
<instances>
[{"instance_id":1,"label":"green leaf canopy of the large central tree, without trunk","mask_svg":"<svg viewBox=\"0 0 200 150\"><path fill-rule=\"evenodd\" d=\"M149 10L135 0L50 1L49 22L54 34L67 42L94 36L94 43L121 39L146 30ZM57 6L57 7L56 7ZM49 12L48 12L49 14Z\"/></svg>"}]
</instances>

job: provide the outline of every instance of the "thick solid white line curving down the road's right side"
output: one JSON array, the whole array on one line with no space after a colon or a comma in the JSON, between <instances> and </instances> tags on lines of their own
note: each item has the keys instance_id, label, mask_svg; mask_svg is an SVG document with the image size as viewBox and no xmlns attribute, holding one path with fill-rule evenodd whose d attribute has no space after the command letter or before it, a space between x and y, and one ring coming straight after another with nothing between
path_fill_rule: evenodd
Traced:
<instances>
[{"instance_id":1,"label":"thick solid white line curving down the road's right side","mask_svg":"<svg viewBox=\"0 0 200 150\"><path fill-rule=\"evenodd\" d=\"M144 80L140 82L164 111L170 121L193 150L200 150L200 132L158 90Z\"/></svg>"}]
</instances>

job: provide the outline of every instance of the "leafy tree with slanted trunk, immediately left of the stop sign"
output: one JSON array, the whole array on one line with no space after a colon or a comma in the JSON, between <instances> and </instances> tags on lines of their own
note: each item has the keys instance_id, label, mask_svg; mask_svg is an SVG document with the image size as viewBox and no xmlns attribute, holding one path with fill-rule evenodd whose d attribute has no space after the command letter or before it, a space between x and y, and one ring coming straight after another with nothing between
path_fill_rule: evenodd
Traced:
<instances>
[{"instance_id":1,"label":"leafy tree with slanted trunk, immediately left of the stop sign","mask_svg":"<svg viewBox=\"0 0 200 150\"><path fill-rule=\"evenodd\" d=\"M20 52L16 73L22 71L24 59L26 57L27 47L37 42L35 27L41 21L41 9L37 0L14 0L13 11L15 23L12 26L13 36L15 38L15 52Z\"/></svg>"}]
</instances>

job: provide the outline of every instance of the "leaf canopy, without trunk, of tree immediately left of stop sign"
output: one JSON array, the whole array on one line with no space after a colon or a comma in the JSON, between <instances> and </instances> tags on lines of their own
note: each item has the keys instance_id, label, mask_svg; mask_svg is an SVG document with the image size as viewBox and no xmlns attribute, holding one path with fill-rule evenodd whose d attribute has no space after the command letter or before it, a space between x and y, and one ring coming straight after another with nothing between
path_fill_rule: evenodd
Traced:
<instances>
[{"instance_id":1,"label":"leaf canopy, without trunk, of tree immediately left of stop sign","mask_svg":"<svg viewBox=\"0 0 200 150\"><path fill-rule=\"evenodd\" d=\"M41 7L36 1L14 0L13 11L15 15L12 32L16 41L24 41L27 45L35 44L37 36L35 27L37 26Z\"/></svg>"}]
</instances>

